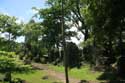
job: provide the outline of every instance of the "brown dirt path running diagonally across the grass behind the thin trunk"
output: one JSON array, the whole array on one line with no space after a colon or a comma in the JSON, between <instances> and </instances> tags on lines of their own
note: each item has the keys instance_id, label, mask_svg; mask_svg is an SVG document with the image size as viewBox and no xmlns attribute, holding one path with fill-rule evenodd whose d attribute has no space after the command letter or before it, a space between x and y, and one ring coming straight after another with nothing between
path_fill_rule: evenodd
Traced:
<instances>
[{"instance_id":1,"label":"brown dirt path running diagonally across the grass behind the thin trunk","mask_svg":"<svg viewBox=\"0 0 125 83\"><path fill-rule=\"evenodd\" d=\"M53 78L56 78L57 80L60 80L61 82L65 83L65 74L61 72L54 71L50 69L46 64L38 64L38 63L32 63L32 66L37 69L41 69L45 71L48 76L51 76ZM80 83L79 79L71 78L69 77L70 83Z\"/></svg>"}]
</instances>

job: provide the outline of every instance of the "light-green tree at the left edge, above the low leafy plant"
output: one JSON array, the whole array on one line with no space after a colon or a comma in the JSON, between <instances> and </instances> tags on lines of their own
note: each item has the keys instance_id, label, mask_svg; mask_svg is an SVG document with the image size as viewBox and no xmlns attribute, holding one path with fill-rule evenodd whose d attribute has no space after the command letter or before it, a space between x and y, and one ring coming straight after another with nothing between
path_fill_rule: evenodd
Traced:
<instances>
[{"instance_id":1,"label":"light-green tree at the left edge, above the low leafy plant","mask_svg":"<svg viewBox=\"0 0 125 83\"><path fill-rule=\"evenodd\" d=\"M15 40L21 35L21 25L17 23L17 18L0 14L0 32L8 45L7 51L14 51Z\"/></svg>"}]
</instances>

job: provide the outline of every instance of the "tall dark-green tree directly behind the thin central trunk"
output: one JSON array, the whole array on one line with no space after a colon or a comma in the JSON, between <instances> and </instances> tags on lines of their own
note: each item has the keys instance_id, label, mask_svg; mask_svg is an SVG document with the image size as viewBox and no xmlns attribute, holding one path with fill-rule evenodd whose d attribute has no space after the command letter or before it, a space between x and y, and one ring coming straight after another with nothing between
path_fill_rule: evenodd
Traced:
<instances>
[{"instance_id":1,"label":"tall dark-green tree directly behind the thin central trunk","mask_svg":"<svg viewBox=\"0 0 125 83\"><path fill-rule=\"evenodd\" d=\"M42 19L41 25L44 27L44 35L43 41L45 41L45 45L48 48L48 55L51 59L51 50L57 49L62 47L62 30L61 30L61 0L48 0L47 4L49 5L48 8L45 9L38 9L38 16ZM64 5L65 8L65 5ZM65 10L65 9L64 9ZM64 19L68 22L68 10L65 10ZM69 21L70 22L70 21ZM76 33L73 31L69 31L71 26L67 25L66 22L64 23L64 35L65 40L69 40L71 36L75 36ZM59 56L61 52L59 52ZM54 55L52 55L54 56ZM51 59L52 60L52 59ZM50 60L50 62L51 62Z\"/></svg>"}]
</instances>

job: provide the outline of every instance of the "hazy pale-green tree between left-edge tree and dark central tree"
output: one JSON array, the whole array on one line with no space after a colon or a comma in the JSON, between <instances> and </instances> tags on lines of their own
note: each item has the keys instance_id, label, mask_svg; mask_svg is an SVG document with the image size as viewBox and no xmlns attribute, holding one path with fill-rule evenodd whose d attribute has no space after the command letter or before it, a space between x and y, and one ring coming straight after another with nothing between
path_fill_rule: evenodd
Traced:
<instances>
[{"instance_id":1,"label":"hazy pale-green tree between left-edge tree and dark central tree","mask_svg":"<svg viewBox=\"0 0 125 83\"><path fill-rule=\"evenodd\" d=\"M43 46L43 43L41 42L43 34L42 30L43 27L40 25L40 23L36 23L33 19L30 20L29 23L24 25L24 54L26 54L26 57L30 58L31 60L37 58L40 61L40 57L45 54L45 48Z\"/></svg>"}]
</instances>

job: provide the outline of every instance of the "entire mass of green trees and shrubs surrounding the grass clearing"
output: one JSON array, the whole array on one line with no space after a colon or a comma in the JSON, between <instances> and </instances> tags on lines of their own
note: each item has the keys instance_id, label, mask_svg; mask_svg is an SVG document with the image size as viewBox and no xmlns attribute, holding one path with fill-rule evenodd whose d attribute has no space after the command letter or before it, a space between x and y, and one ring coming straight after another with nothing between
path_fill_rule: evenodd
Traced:
<instances>
[{"instance_id":1,"label":"entire mass of green trees and shrubs surrounding the grass clearing","mask_svg":"<svg viewBox=\"0 0 125 83\"><path fill-rule=\"evenodd\" d=\"M68 70L86 64L104 74L112 72L115 79L125 78L124 0L47 0L46 4L47 8L33 7L37 13L28 23L0 13L4 80L11 82L11 73L33 70L32 62L64 66L66 83ZM76 45L72 38L80 40L79 32L84 39ZM16 42L19 37L24 42Z\"/></svg>"}]
</instances>

